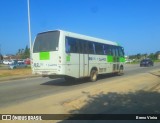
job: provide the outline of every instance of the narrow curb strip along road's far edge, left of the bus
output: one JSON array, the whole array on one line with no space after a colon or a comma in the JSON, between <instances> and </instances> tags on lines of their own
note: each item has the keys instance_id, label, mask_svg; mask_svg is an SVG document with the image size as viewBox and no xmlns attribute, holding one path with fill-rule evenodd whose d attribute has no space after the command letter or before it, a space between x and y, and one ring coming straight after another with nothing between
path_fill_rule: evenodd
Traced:
<instances>
[{"instance_id":1,"label":"narrow curb strip along road's far edge, left of the bus","mask_svg":"<svg viewBox=\"0 0 160 123\"><path fill-rule=\"evenodd\" d=\"M20 80L26 78L36 78L41 77L39 75L25 75L25 76L11 76L11 77L2 77L0 78L0 82L9 81L9 80Z\"/></svg>"}]
</instances>

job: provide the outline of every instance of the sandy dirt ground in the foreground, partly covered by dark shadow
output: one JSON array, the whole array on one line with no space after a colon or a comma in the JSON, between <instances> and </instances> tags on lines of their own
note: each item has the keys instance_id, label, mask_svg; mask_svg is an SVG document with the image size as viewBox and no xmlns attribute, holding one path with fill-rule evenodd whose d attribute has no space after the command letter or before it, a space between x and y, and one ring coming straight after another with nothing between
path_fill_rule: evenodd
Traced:
<instances>
[{"instance_id":1,"label":"sandy dirt ground in the foreground, partly covered by dark shadow","mask_svg":"<svg viewBox=\"0 0 160 123\"><path fill-rule=\"evenodd\" d=\"M0 114L154 114L159 97L160 70L1 108Z\"/></svg>"}]
</instances>

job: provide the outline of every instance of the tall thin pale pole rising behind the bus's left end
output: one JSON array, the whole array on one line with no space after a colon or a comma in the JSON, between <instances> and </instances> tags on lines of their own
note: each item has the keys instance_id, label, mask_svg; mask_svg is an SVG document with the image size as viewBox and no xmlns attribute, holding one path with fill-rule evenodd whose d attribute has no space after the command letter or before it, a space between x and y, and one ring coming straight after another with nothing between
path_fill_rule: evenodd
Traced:
<instances>
[{"instance_id":1,"label":"tall thin pale pole rising behind the bus's left end","mask_svg":"<svg viewBox=\"0 0 160 123\"><path fill-rule=\"evenodd\" d=\"M31 38L31 25L30 25L30 0L27 0L28 5L28 33L29 33L29 45L30 45L30 59L32 59L32 38Z\"/></svg>"}]
</instances>

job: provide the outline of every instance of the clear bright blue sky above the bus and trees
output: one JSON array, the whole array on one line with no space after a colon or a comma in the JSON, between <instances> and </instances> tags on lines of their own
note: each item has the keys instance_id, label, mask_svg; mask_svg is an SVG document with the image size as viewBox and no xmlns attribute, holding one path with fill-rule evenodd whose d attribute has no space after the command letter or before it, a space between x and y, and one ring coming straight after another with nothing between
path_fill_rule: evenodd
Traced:
<instances>
[{"instance_id":1,"label":"clear bright blue sky above the bus and trees","mask_svg":"<svg viewBox=\"0 0 160 123\"><path fill-rule=\"evenodd\" d=\"M160 0L30 0L32 42L61 29L118 42L126 55L160 51ZM0 52L29 46L27 0L0 0Z\"/></svg>"}]
</instances>

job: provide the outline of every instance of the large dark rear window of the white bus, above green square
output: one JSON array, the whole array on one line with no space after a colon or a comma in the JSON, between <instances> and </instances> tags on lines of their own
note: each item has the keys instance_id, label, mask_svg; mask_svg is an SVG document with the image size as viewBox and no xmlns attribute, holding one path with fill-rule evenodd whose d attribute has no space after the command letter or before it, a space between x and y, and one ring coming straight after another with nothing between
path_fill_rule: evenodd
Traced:
<instances>
[{"instance_id":1,"label":"large dark rear window of the white bus, above green square","mask_svg":"<svg viewBox=\"0 0 160 123\"><path fill-rule=\"evenodd\" d=\"M37 35L33 53L58 50L59 31L44 32Z\"/></svg>"}]
</instances>

